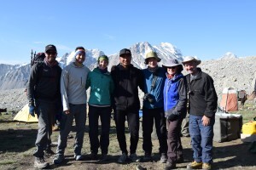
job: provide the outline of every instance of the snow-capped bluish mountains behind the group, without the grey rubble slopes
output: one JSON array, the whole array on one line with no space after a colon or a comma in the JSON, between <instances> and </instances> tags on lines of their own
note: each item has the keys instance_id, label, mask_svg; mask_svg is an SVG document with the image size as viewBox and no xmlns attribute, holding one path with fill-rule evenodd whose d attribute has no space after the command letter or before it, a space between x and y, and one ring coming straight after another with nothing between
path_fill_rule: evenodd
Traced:
<instances>
[{"instance_id":1,"label":"snow-capped bluish mountains behind the group, without the grey rubble slopes","mask_svg":"<svg viewBox=\"0 0 256 170\"><path fill-rule=\"evenodd\" d=\"M131 46L132 54L132 65L138 68L145 68L144 59L148 51L155 51L161 61L160 65L166 62L167 59L175 58L178 60L183 60L183 56L179 49L174 47L171 43L162 42L160 45L152 46L148 42L138 42ZM104 54L99 49L87 49L86 50L86 59L84 65L88 66L90 70L96 67L97 58ZM112 65L119 64L119 51L116 54L108 55L109 65L108 70L111 69ZM60 66L63 68L65 65L68 65L72 62L73 52L68 52L62 57L57 57L57 61L60 63ZM26 82L28 80L30 73L30 64L26 65L4 65L0 64L0 90L4 89L13 89L13 88L25 88Z\"/></svg>"}]
</instances>

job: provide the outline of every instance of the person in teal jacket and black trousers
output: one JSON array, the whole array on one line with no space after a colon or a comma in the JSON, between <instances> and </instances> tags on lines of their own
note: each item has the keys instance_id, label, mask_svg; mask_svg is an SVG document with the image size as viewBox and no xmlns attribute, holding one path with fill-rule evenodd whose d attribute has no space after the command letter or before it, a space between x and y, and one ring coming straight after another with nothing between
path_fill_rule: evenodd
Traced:
<instances>
[{"instance_id":1,"label":"person in teal jacket and black trousers","mask_svg":"<svg viewBox=\"0 0 256 170\"><path fill-rule=\"evenodd\" d=\"M98 148L102 150L102 161L108 159L109 128L112 111L113 80L108 72L108 56L98 58L98 66L89 73L86 89L90 87L89 137L90 158L98 159ZM98 139L98 119L101 118L102 133Z\"/></svg>"}]
</instances>

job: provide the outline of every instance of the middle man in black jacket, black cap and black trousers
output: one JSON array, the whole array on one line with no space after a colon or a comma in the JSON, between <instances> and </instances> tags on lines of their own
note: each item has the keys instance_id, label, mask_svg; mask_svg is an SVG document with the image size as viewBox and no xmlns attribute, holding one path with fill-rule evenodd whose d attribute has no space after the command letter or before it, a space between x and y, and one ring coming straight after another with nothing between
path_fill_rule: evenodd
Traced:
<instances>
[{"instance_id":1,"label":"middle man in black jacket, black cap and black trousers","mask_svg":"<svg viewBox=\"0 0 256 170\"><path fill-rule=\"evenodd\" d=\"M131 135L130 159L140 161L136 155L139 131L138 87L143 89L143 72L131 65L131 50L124 48L119 52L119 65L113 66L111 75L114 82L114 112L117 139L122 155L119 163L127 160L128 151L125 141L125 118L127 116Z\"/></svg>"}]
</instances>

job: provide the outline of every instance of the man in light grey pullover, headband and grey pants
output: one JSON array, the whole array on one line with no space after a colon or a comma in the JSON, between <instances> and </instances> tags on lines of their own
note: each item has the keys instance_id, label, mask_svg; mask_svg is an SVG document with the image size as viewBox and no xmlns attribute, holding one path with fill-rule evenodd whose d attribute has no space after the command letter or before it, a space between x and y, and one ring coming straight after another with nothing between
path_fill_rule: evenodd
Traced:
<instances>
[{"instance_id":1,"label":"man in light grey pullover, headband and grey pants","mask_svg":"<svg viewBox=\"0 0 256 170\"><path fill-rule=\"evenodd\" d=\"M84 141L86 120L86 79L90 72L83 63L85 49L78 47L73 54L74 62L67 65L61 74L61 98L64 113L61 116L61 132L58 139L56 156L53 162L59 164L64 161L64 152L67 147L67 135L70 133L73 117L75 118L77 133L74 144L74 158L82 160L81 149Z\"/></svg>"}]
</instances>

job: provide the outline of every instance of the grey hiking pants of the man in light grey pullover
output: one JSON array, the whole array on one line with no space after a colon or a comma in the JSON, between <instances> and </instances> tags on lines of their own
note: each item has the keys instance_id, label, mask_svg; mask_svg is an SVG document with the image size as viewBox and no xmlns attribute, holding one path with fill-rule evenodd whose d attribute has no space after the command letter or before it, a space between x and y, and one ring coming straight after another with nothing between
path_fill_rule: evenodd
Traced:
<instances>
[{"instance_id":1,"label":"grey hiking pants of the man in light grey pullover","mask_svg":"<svg viewBox=\"0 0 256 170\"><path fill-rule=\"evenodd\" d=\"M58 146L56 150L57 155L64 155L67 147L67 136L71 131L73 125L73 118L76 123L76 137L74 144L74 154L81 155L81 149L84 142L84 129L86 121L86 104L73 105L69 104L70 114L62 113L61 116L61 131L58 139Z\"/></svg>"}]
</instances>

